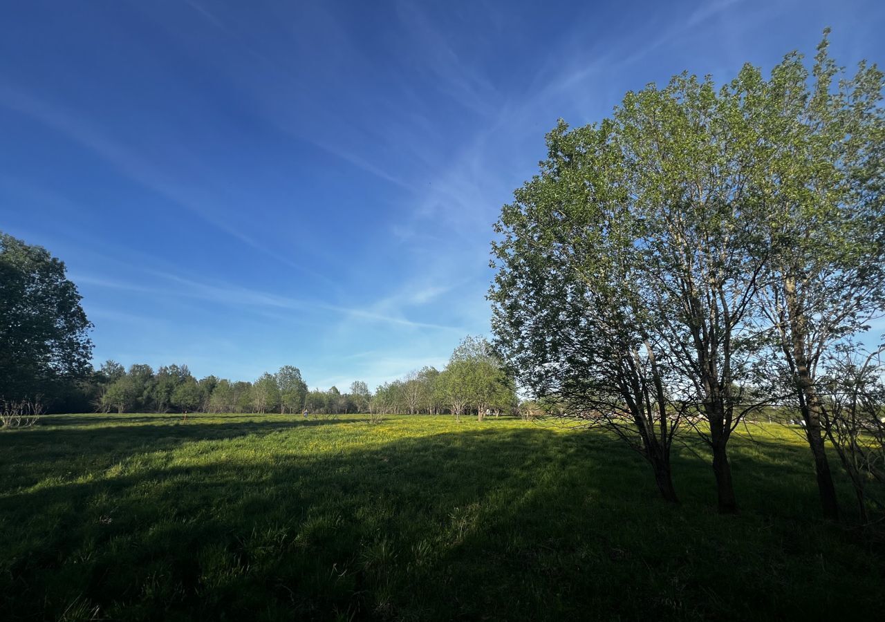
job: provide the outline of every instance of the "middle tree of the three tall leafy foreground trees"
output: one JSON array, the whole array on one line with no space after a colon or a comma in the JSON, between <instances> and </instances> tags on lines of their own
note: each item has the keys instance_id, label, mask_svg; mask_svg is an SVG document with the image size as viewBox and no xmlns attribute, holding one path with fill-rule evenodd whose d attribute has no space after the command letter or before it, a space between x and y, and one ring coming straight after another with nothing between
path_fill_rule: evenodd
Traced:
<instances>
[{"instance_id":1,"label":"middle tree of the three tall leafy foreground trees","mask_svg":"<svg viewBox=\"0 0 885 622\"><path fill-rule=\"evenodd\" d=\"M746 73L718 92L709 78L682 74L628 93L615 113L623 182L643 224L643 307L676 372L671 392L704 419L695 429L712 452L721 512L738 509L727 444L766 401L749 390L758 380L751 303L767 249L747 182L761 150Z\"/></svg>"}]
</instances>

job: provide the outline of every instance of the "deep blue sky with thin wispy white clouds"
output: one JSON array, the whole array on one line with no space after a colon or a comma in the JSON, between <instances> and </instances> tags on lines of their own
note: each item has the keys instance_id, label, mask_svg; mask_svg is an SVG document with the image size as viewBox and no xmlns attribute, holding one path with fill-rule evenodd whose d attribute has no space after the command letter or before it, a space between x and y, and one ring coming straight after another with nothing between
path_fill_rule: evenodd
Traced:
<instances>
[{"instance_id":1,"label":"deep blue sky with thin wispy white clouds","mask_svg":"<svg viewBox=\"0 0 885 622\"><path fill-rule=\"evenodd\" d=\"M0 229L65 260L96 362L312 387L488 334L491 224L558 118L882 2L0 1Z\"/></svg>"}]
</instances>

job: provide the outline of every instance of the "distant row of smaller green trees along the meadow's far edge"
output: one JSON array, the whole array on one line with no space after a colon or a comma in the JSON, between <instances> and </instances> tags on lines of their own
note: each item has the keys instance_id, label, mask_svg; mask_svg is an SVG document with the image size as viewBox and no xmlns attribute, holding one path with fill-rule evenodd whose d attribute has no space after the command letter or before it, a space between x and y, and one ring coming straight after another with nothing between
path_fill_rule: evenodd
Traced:
<instances>
[{"instance_id":1,"label":"distant row of smaller green trees along the meadow's far edge","mask_svg":"<svg viewBox=\"0 0 885 622\"><path fill-rule=\"evenodd\" d=\"M279 412L346 414L473 414L500 415L518 410L512 379L492 353L489 342L467 337L452 353L440 372L424 367L401 380L385 382L372 393L357 380L346 392L337 387L309 389L300 370L285 365L276 373L263 373L253 381L207 376L197 380L188 365L166 365L156 371L150 365L131 365L127 370L109 360L77 380L74 392L83 403L101 412ZM53 410L67 405L52 403Z\"/></svg>"}]
</instances>

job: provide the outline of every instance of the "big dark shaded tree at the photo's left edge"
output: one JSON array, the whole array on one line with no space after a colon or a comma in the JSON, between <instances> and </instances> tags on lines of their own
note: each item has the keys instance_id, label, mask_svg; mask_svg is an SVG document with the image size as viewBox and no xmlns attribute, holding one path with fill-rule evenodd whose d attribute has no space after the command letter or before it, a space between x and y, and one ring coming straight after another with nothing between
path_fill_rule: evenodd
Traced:
<instances>
[{"instance_id":1,"label":"big dark shaded tree at the photo's left edge","mask_svg":"<svg viewBox=\"0 0 885 622\"><path fill-rule=\"evenodd\" d=\"M80 301L62 261L0 233L0 397L35 397L91 372Z\"/></svg>"}]
</instances>

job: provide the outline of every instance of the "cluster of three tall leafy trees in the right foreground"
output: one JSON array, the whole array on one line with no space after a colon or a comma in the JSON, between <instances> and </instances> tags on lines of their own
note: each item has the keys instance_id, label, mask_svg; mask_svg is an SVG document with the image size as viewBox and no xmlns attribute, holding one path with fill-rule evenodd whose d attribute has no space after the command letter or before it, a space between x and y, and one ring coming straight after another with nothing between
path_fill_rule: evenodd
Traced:
<instances>
[{"instance_id":1,"label":"cluster of three tall leafy trees in the right foreground","mask_svg":"<svg viewBox=\"0 0 885 622\"><path fill-rule=\"evenodd\" d=\"M769 79L745 65L722 88L682 74L627 93L548 136L497 225L496 342L521 379L571 416L627 421L646 457L643 411L658 445L699 415L720 511L737 510L731 434L781 396L760 390L769 344L837 515L815 367L881 310L885 124L881 73L836 73L825 38L812 81L793 53Z\"/></svg>"}]
</instances>

